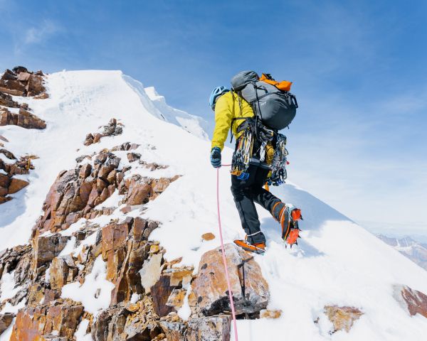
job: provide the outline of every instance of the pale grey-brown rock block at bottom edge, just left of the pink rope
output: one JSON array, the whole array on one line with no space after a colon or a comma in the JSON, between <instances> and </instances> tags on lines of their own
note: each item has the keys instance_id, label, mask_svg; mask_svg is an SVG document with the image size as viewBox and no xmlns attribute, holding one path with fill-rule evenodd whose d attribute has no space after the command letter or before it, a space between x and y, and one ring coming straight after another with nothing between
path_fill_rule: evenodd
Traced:
<instances>
[{"instance_id":1,"label":"pale grey-brown rock block at bottom edge, just left of the pink rope","mask_svg":"<svg viewBox=\"0 0 427 341\"><path fill-rule=\"evenodd\" d=\"M230 317L228 315L193 318L188 322L187 341L229 341Z\"/></svg>"}]
</instances>

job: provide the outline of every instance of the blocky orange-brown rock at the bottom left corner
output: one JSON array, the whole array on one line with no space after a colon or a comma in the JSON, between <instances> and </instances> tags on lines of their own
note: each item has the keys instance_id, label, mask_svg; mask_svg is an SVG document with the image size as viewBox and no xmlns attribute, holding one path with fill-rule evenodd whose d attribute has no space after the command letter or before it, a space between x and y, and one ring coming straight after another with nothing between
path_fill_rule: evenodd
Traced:
<instances>
[{"instance_id":1,"label":"blocky orange-brown rock at the bottom left corner","mask_svg":"<svg viewBox=\"0 0 427 341\"><path fill-rule=\"evenodd\" d=\"M19 310L11 334L11 341L49 340L73 335L83 314L83 305L70 300L57 300L38 307L27 306Z\"/></svg>"}]
</instances>

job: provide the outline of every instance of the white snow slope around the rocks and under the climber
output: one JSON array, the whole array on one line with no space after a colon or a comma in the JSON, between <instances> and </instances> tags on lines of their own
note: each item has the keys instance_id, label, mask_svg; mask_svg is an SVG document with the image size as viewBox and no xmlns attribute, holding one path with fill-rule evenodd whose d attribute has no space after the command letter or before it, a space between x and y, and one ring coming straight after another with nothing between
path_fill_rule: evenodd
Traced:
<instances>
[{"instance_id":1,"label":"white snow slope around the rocks and under the climber","mask_svg":"<svg viewBox=\"0 0 427 341\"><path fill-rule=\"evenodd\" d=\"M183 175L147 204L144 215L162 222L151 238L167 249L167 259L183 256L183 264L197 268L201 255L219 245L218 238L201 239L206 232L218 233L216 170L209 163L210 144L199 119L167 107L154 90L144 89L118 71L58 72L48 76L47 87L49 99L26 99L46 121L47 129L0 129L11 141L10 151L40 157L33 162L36 169L28 175L26 190L0 205L0 249L28 241L59 171L74 168L78 156L130 141L141 144L137 153L143 160L169 165L150 176ZM85 135L112 117L124 124L123 134L83 146ZM231 153L229 148L223 151L225 163ZM121 166L126 162L122 158ZM224 237L231 242L244 234L229 190L228 169L220 172ZM396 283L427 293L426 271L302 188L288 184L273 192L301 207L302 239L300 247L286 249L278 224L259 210L268 251L255 259L270 286L269 308L281 309L283 315L278 320L239 320L240 340L425 340L427 319L409 317L392 294ZM119 199L113 195L104 205L117 205ZM114 215L121 213L117 210ZM364 312L348 334L328 333L330 324L322 310L333 304L352 305ZM313 323L319 316L319 323Z\"/></svg>"}]
</instances>

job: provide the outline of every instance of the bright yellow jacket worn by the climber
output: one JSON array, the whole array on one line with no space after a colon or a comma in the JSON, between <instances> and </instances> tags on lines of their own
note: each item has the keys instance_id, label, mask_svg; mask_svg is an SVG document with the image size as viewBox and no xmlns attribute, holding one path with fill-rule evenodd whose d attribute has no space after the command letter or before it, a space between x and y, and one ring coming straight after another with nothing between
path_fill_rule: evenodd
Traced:
<instances>
[{"instance_id":1,"label":"bright yellow jacket worn by the climber","mask_svg":"<svg viewBox=\"0 0 427 341\"><path fill-rule=\"evenodd\" d=\"M253 117L251 104L246 102L245 99L238 97L238 94L235 92L229 91L216 100L215 129L211 148L219 147L222 151L231 122L238 117ZM244 119L233 121L233 135L236 139L240 136L240 134L237 134L237 128L244 121Z\"/></svg>"}]
</instances>

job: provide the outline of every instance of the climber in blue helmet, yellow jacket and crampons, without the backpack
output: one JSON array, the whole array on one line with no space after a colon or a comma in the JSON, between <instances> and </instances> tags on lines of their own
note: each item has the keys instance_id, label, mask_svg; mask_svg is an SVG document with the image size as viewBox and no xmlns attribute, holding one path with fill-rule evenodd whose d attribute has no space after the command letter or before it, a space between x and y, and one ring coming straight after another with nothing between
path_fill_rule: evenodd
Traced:
<instances>
[{"instance_id":1,"label":"climber in blue helmet, yellow jacket and crampons, without the backpack","mask_svg":"<svg viewBox=\"0 0 427 341\"><path fill-rule=\"evenodd\" d=\"M236 138L236 150L233 154L233 163L235 163L236 153L245 143L245 134L249 131L242 128L253 119L254 112L251 105L243 97L234 90L228 90L223 86L216 87L212 91L209 97L209 105L215 112L211 164L214 168L218 168L221 167L221 151L227 139L228 130L231 129L232 136ZM273 139L273 134L269 136L269 129L261 127L258 130L260 131L258 135L266 137L267 140ZM252 151L252 147L250 150ZM296 243L296 239L299 237L297 220L300 220L301 217L299 209L292 205L286 205L278 197L263 188L270 172L271 157L270 159L267 158L266 162L260 162L259 148L258 150L253 148L253 150L254 152L251 153L250 157L254 162L248 165L244 173L232 172L231 175L231 193L241 218L242 227L246 232L245 240L238 239L234 242L246 251L263 254L265 236L260 230L260 221L254 202L268 210L275 220L280 222L283 240L291 246ZM266 153L266 155L271 156L271 153ZM258 156L258 161L256 158L252 158L253 156Z\"/></svg>"}]
</instances>

